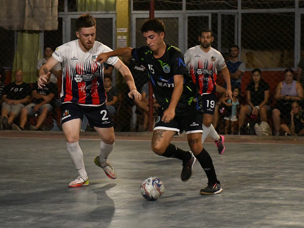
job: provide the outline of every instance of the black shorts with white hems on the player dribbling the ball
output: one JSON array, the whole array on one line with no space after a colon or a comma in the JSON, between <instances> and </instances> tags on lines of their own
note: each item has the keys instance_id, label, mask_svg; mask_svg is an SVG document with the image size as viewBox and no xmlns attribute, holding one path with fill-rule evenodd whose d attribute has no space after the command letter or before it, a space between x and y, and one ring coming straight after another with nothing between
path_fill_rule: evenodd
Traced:
<instances>
[{"instance_id":1,"label":"black shorts with white hems on the player dribbling the ball","mask_svg":"<svg viewBox=\"0 0 304 228\"><path fill-rule=\"evenodd\" d=\"M185 131L186 134L203 132L203 112L195 112L187 116L174 116L174 118L169 123L164 123L163 121L161 121L163 115L163 111L160 111L158 113L157 119L155 121L154 130L161 129L176 131L178 134L183 131Z\"/></svg>"}]
</instances>

